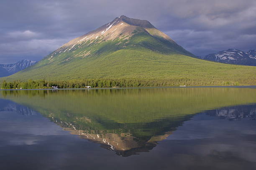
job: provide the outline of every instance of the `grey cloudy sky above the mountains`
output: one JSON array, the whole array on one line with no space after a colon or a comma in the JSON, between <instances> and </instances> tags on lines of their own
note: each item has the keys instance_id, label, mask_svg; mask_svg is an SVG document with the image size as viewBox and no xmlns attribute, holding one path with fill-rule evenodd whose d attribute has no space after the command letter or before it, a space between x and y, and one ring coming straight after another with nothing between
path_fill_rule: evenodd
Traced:
<instances>
[{"instance_id":1,"label":"grey cloudy sky above the mountains","mask_svg":"<svg viewBox=\"0 0 256 170\"><path fill-rule=\"evenodd\" d=\"M39 61L120 15L148 20L194 55L256 49L256 0L1 0L0 64Z\"/></svg>"}]
</instances>

